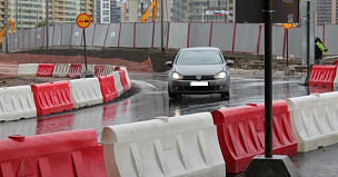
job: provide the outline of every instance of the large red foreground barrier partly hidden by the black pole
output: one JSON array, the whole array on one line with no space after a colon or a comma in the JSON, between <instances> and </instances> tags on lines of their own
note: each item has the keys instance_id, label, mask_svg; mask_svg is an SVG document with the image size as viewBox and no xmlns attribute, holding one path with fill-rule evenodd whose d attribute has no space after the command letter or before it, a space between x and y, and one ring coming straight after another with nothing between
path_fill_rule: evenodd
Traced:
<instances>
[{"instance_id":1,"label":"large red foreground barrier partly hidden by the black pole","mask_svg":"<svg viewBox=\"0 0 338 177\"><path fill-rule=\"evenodd\" d=\"M297 141L286 101L275 101L272 109L274 154L297 155ZM227 174L243 171L252 157L265 151L264 104L248 104L242 107L215 110L211 114L217 126Z\"/></svg>"}]
</instances>

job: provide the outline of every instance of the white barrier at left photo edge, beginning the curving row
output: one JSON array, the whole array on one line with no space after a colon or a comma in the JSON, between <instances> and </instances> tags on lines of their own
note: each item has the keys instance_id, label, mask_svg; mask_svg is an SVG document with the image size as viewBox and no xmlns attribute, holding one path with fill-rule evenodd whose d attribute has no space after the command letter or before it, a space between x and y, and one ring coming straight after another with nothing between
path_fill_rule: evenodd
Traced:
<instances>
[{"instance_id":1,"label":"white barrier at left photo edge, beginning the curving row","mask_svg":"<svg viewBox=\"0 0 338 177\"><path fill-rule=\"evenodd\" d=\"M0 88L0 120L37 117L30 86Z\"/></svg>"}]
</instances>

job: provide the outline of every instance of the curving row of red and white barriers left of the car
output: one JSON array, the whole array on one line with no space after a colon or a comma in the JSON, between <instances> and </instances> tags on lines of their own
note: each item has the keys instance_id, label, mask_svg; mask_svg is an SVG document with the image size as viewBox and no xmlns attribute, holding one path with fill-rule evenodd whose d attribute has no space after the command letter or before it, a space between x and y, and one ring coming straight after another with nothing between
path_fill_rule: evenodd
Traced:
<instances>
[{"instance_id":1,"label":"curving row of red and white barriers left of the car","mask_svg":"<svg viewBox=\"0 0 338 177\"><path fill-rule=\"evenodd\" d=\"M53 67L54 65L19 65L18 76L50 77ZM100 76L105 71L108 75ZM58 71L62 76L67 72L69 73L67 70ZM100 72L97 75L95 78L0 88L0 121L46 116L108 102L131 88L125 67L108 66L105 70L105 67L100 66Z\"/></svg>"}]
</instances>

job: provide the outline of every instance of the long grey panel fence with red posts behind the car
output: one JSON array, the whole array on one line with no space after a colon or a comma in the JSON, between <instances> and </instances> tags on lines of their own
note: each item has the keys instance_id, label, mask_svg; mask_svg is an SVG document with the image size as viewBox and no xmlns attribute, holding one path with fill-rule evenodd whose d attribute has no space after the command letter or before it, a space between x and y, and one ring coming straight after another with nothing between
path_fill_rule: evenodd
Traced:
<instances>
[{"instance_id":1,"label":"long grey panel fence with red posts behind the car","mask_svg":"<svg viewBox=\"0 0 338 177\"><path fill-rule=\"evenodd\" d=\"M186 47L218 47L222 51L249 52L264 55L264 26L258 23L226 22L165 22L165 47L180 49ZM316 36L320 37L330 49L328 55L338 53L336 39L337 24L315 27ZM89 47L101 48L160 48L160 22L128 23L93 23L86 29L86 41ZM272 55L289 53L295 58L302 57L304 29L296 27L285 30L282 26L274 26ZM287 35L288 33L288 35ZM74 23L54 23L46 27L22 30L9 35L8 51L27 50L47 46L79 47L83 46L82 29ZM287 37L289 43L287 43ZM3 40L4 41L4 40ZM4 45L2 45L4 51Z\"/></svg>"}]
</instances>

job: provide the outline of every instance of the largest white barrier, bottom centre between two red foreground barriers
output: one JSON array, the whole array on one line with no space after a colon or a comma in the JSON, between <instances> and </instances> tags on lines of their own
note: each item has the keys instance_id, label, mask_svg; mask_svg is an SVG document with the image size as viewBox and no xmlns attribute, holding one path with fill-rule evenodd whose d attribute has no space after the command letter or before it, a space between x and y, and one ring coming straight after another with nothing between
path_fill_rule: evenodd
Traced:
<instances>
[{"instance_id":1,"label":"largest white barrier, bottom centre between two red foreground barriers","mask_svg":"<svg viewBox=\"0 0 338 177\"><path fill-rule=\"evenodd\" d=\"M211 114L105 127L109 177L226 176Z\"/></svg>"}]
</instances>

